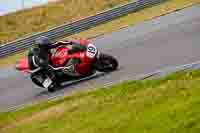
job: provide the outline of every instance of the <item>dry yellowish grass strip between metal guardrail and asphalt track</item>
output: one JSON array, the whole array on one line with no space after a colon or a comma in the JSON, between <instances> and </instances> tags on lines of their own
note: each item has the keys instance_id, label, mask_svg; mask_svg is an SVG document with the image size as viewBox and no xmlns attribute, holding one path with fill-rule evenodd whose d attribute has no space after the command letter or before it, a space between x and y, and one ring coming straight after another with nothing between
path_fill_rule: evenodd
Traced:
<instances>
[{"instance_id":1,"label":"dry yellowish grass strip between metal guardrail and asphalt track","mask_svg":"<svg viewBox=\"0 0 200 133\"><path fill-rule=\"evenodd\" d=\"M127 16L121 17L119 19L110 21L108 23L99 25L97 27L91 28L89 30L83 31L79 34L72 35L68 38L91 38L93 36L98 36L101 34L105 34L108 32L116 31L122 27L126 27L129 25L135 25L141 23L143 21L155 18L157 16L161 16L178 9L182 9L193 4L199 3L199 0L169 0L163 4L146 8L144 10L138 11L136 13L131 13ZM0 59L0 67L7 67L8 65L12 65L16 62L19 57L23 57L26 52L20 54L14 54L5 58Z\"/></svg>"}]
</instances>

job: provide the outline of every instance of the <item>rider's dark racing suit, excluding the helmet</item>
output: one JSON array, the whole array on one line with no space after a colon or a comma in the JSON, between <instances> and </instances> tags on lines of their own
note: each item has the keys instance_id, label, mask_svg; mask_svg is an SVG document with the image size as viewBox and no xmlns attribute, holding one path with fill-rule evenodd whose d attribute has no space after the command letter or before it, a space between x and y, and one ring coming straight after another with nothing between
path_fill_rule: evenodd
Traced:
<instances>
[{"instance_id":1,"label":"rider's dark racing suit, excluding the helmet","mask_svg":"<svg viewBox=\"0 0 200 133\"><path fill-rule=\"evenodd\" d=\"M78 51L84 51L87 49L85 45L79 44L75 41L60 41L53 45L50 45L48 48L31 48L28 52L28 61L31 70L34 70L40 67L53 81L57 81L54 70L49 65L49 53L50 50L61 45L72 45L72 48L68 51L69 54L73 54ZM70 59L67 65L74 67L75 64L79 63L78 59ZM66 66L67 66L66 65Z\"/></svg>"}]
</instances>

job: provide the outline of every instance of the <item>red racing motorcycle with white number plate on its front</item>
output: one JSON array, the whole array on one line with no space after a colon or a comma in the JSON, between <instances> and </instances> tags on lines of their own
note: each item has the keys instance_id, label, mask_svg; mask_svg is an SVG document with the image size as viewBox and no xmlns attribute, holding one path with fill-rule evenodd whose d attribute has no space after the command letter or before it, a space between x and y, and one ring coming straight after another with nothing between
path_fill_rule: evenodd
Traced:
<instances>
[{"instance_id":1,"label":"red racing motorcycle with white number plate on its front","mask_svg":"<svg viewBox=\"0 0 200 133\"><path fill-rule=\"evenodd\" d=\"M97 71L112 72L117 69L118 61L113 56L101 53L93 43L87 40L76 41L79 41L81 45L86 45L87 50L68 54L69 48L60 46L53 49L53 52L49 54L50 66L55 71L60 84L62 82L91 76ZM68 66L65 65L70 58L74 57L80 60L80 63L75 65L75 71L79 74L78 76L71 76L66 73L69 69ZM54 92L57 89L55 86L52 87L53 81L42 71L42 69L39 67L35 70L29 69L28 58L19 60L16 64L16 69L21 72L30 73L32 82L37 86L47 88L50 92Z\"/></svg>"}]
</instances>

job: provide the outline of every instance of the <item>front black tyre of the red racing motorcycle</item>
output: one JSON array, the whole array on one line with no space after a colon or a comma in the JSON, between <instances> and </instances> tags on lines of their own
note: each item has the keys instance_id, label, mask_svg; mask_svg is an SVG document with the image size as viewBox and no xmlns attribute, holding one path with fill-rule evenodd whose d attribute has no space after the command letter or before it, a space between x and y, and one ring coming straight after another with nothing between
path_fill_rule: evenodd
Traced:
<instances>
[{"instance_id":1,"label":"front black tyre of the red racing motorcycle","mask_svg":"<svg viewBox=\"0 0 200 133\"><path fill-rule=\"evenodd\" d=\"M118 61L113 56L101 54L97 60L95 67L100 72L112 72L117 69Z\"/></svg>"}]
</instances>

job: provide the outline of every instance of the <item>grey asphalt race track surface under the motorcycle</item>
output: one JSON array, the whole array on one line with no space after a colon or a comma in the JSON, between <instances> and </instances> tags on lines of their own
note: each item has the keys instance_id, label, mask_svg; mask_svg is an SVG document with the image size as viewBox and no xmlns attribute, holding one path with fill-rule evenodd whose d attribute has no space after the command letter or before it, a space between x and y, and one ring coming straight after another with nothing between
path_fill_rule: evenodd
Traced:
<instances>
[{"instance_id":1,"label":"grey asphalt race track surface under the motorcycle","mask_svg":"<svg viewBox=\"0 0 200 133\"><path fill-rule=\"evenodd\" d=\"M200 6L105 34L93 39L93 42L101 51L118 58L118 71L48 93L13 68L1 70L0 111L63 95L71 90L99 87L128 76L200 60Z\"/></svg>"}]
</instances>

